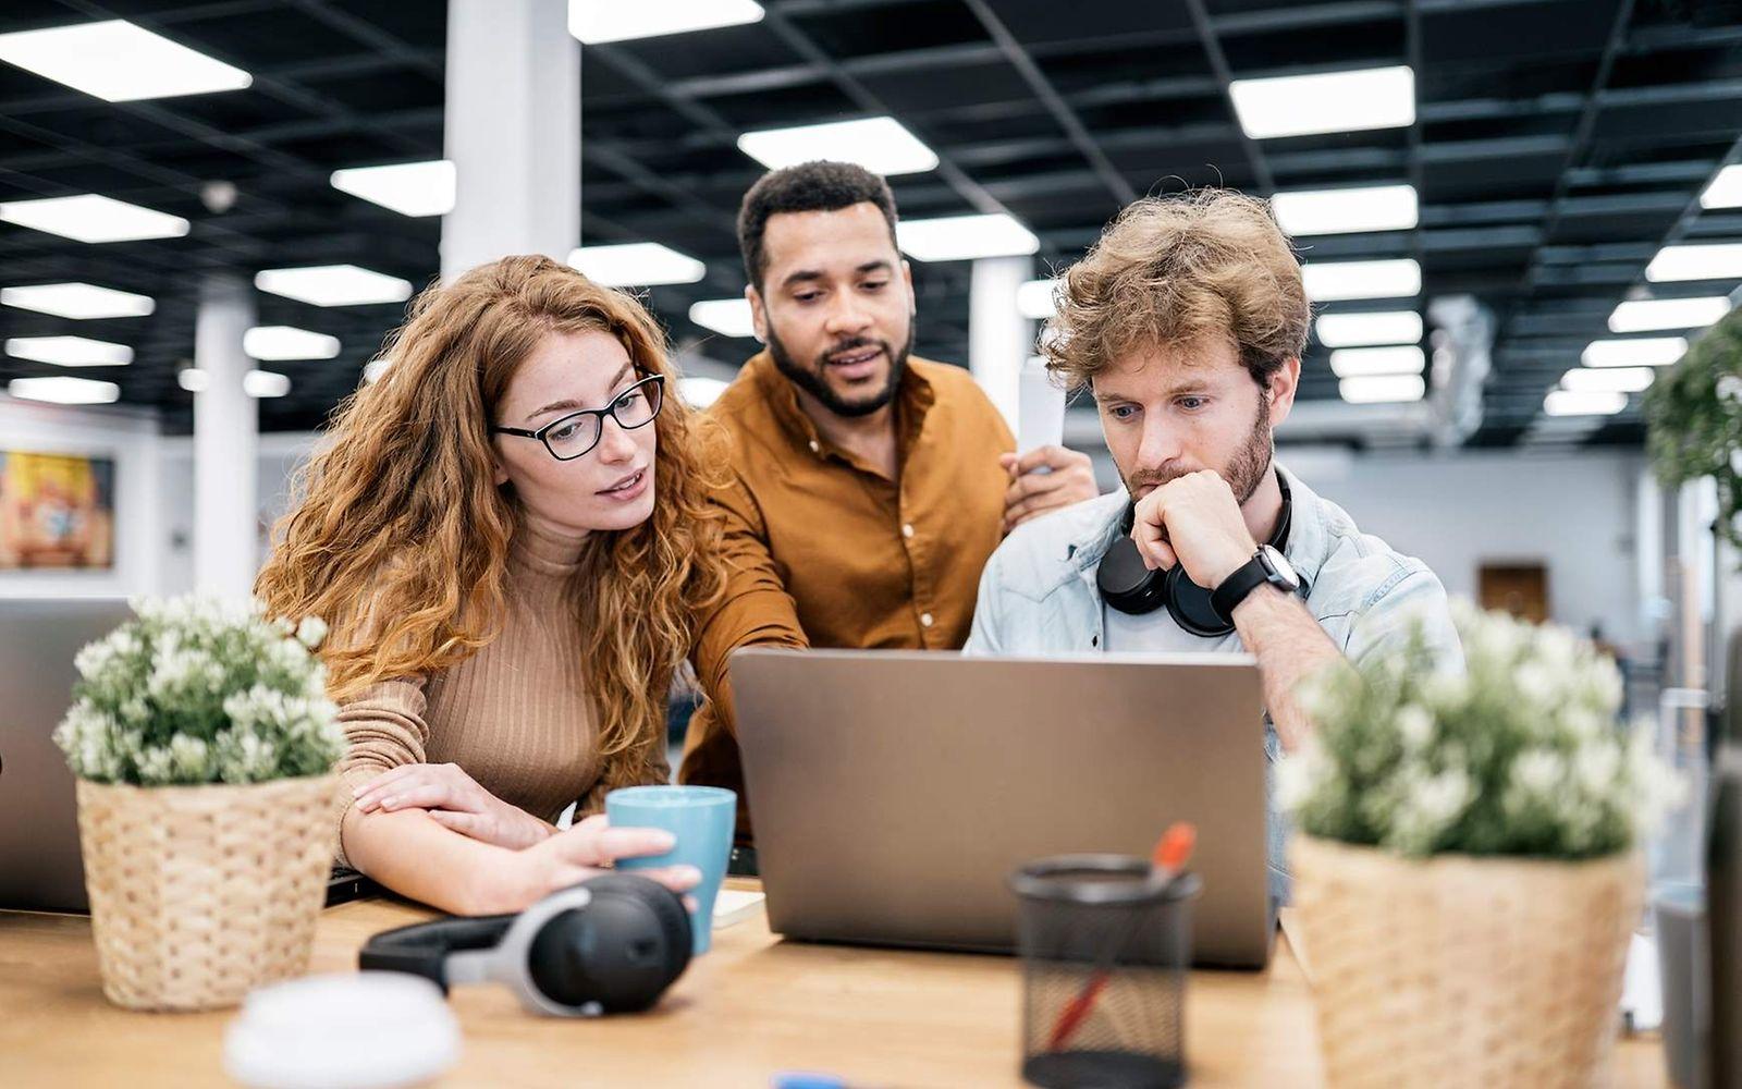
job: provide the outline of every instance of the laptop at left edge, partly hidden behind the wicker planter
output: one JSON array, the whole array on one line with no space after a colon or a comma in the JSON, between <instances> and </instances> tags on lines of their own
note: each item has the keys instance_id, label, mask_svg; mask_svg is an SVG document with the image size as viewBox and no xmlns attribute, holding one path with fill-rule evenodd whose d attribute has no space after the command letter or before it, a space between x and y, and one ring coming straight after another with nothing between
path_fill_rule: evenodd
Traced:
<instances>
[{"instance_id":1,"label":"laptop at left edge, partly hidden behind the wicker planter","mask_svg":"<svg viewBox=\"0 0 1742 1089\"><path fill-rule=\"evenodd\" d=\"M0 910L91 910L73 774L52 735L73 702L73 657L131 619L115 598L0 599ZM334 869L327 904L375 892Z\"/></svg>"}]
</instances>

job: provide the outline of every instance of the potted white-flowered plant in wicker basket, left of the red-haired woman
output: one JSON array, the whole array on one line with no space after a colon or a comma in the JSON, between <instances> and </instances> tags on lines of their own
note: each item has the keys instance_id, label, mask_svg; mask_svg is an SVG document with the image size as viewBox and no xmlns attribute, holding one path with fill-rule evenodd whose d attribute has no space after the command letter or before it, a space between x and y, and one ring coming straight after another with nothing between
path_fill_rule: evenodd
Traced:
<instances>
[{"instance_id":1,"label":"potted white-flowered plant in wicker basket, left of the red-haired woman","mask_svg":"<svg viewBox=\"0 0 1742 1089\"><path fill-rule=\"evenodd\" d=\"M54 734L103 993L132 1009L233 1005L307 971L345 747L314 648L258 605L134 601L78 652Z\"/></svg>"}]
</instances>

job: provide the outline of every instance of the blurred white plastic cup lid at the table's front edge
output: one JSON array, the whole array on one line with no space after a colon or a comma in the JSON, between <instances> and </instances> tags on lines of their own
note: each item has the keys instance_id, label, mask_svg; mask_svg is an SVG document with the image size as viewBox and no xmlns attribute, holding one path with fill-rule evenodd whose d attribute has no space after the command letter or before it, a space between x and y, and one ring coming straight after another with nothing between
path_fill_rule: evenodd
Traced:
<instances>
[{"instance_id":1,"label":"blurred white plastic cup lid at the table's front edge","mask_svg":"<svg viewBox=\"0 0 1742 1089\"><path fill-rule=\"evenodd\" d=\"M404 972L308 976L249 991L225 1072L254 1089L420 1086L460 1059L441 988Z\"/></svg>"}]
</instances>

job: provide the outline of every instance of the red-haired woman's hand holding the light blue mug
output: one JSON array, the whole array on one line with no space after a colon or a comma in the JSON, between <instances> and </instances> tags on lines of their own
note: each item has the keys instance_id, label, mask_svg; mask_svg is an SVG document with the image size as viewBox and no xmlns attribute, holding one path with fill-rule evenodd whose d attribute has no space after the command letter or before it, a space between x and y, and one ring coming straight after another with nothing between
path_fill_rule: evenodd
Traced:
<instances>
[{"instance_id":1,"label":"red-haired woman's hand holding the light blue mug","mask_svg":"<svg viewBox=\"0 0 1742 1089\"><path fill-rule=\"evenodd\" d=\"M479 875L479 885L469 899L476 903L474 915L524 911L559 889L610 873L610 866L620 859L665 854L674 845L676 838L662 828L611 828L603 814L587 817L568 831L557 831L531 847L498 856ZM695 866L662 866L634 873L679 894L695 889L702 880L702 871ZM683 904L690 911L697 908L690 896L683 897Z\"/></svg>"}]
</instances>

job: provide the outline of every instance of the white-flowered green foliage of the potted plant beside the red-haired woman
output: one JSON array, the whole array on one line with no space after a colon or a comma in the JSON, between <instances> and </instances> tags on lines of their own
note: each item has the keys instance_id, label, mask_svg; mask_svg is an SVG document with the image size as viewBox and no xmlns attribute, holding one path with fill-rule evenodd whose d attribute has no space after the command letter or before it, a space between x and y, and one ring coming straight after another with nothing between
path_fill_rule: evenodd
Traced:
<instances>
[{"instance_id":1,"label":"white-flowered green foliage of the potted plant beside the red-haired woman","mask_svg":"<svg viewBox=\"0 0 1742 1089\"><path fill-rule=\"evenodd\" d=\"M73 706L54 732L75 775L174 786L322 775L345 751L314 648L258 605L136 599L136 620L78 652Z\"/></svg>"}]
</instances>

